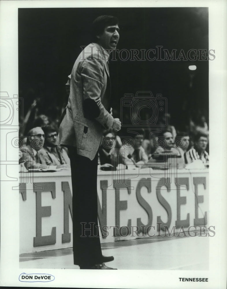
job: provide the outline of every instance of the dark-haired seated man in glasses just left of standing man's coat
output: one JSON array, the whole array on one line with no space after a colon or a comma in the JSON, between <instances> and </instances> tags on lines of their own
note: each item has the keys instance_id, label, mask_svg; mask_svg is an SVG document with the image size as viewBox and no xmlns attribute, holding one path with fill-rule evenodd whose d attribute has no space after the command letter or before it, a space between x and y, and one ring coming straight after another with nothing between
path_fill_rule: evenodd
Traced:
<instances>
[{"instance_id":1,"label":"dark-haired seated man in glasses just left of standing man's coat","mask_svg":"<svg viewBox=\"0 0 227 289\"><path fill-rule=\"evenodd\" d=\"M45 134L43 150L46 152L51 164L67 164L70 167L70 159L64 147L57 146L57 128L54 125L42 127Z\"/></svg>"}]
</instances>

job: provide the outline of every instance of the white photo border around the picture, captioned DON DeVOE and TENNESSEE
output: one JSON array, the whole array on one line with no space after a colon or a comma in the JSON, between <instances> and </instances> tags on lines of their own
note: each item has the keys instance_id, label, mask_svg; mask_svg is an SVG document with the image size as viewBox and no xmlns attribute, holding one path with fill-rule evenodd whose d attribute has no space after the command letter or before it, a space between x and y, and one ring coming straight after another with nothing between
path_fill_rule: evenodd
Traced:
<instances>
[{"instance_id":1,"label":"white photo border around the picture, captioned DON DeVOE and TENNESSEE","mask_svg":"<svg viewBox=\"0 0 227 289\"><path fill-rule=\"evenodd\" d=\"M88 4L89 3L89 4ZM0 87L10 97L18 95L18 8L53 7L209 7L209 49L215 49L215 60L209 62L209 223L215 225L215 237L209 240L208 271L117 270L105 273L71 269L26 269L26 273L48 273L55 276L50 287L71 288L226 288L226 1L1 1L0 2ZM18 112L14 111L18 119ZM5 131L1 127L1 174L6 163L7 175L19 179L18 165L4 160ZM12 155L17 160L18 155ZM3 160L3 161L2 161ZM14 181L15 186L18 182ZM193 254L193 251L192 251ZM12 183L1 182L1 286L44 287L47 283L19 281L19 194ZM209 282L183 283L179 277L208 277ZM98 280L98 284L92 282ZM168 287L167 287L168 286Z\"/></svg>"}]
</instances>

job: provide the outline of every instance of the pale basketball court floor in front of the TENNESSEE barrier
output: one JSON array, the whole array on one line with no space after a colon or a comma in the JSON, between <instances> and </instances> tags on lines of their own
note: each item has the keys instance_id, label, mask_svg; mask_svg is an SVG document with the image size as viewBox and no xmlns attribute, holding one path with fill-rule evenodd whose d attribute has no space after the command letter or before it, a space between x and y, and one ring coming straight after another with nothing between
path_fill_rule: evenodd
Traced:
<instances>
[{"instance_id":1,"label":"pale basketball court floor in front of the TENNESSEE barrier","mask_svg":"<svg viewBox=\"0 0 227 289\"><path fill-rule=\"evenodd\" d=\"M101 244L106 265L133 270L208 270L208 237L145 237ZM79 269L72 248L21 254L20 268Z\"/></svg>"}]
</instances>

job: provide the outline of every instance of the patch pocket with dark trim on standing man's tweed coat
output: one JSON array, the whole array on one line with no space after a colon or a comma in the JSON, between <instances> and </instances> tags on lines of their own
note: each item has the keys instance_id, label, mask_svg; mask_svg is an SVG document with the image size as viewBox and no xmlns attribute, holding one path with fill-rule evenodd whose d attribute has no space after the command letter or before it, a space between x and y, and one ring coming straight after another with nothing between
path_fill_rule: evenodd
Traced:
<instances>
[{"instance_id":1,"label":"patch pocket with dark trim on standing man's tweed coat","mask_svg":"<svg viewBox=\"0 0 227 289\"><path fill-rule=\"evenodd\" d=\"M89 120L83 116L76 115L74 118L74 129L77 147L86 151L92 151L92 140L90 139Z\"/></svg>"}]
</instances>

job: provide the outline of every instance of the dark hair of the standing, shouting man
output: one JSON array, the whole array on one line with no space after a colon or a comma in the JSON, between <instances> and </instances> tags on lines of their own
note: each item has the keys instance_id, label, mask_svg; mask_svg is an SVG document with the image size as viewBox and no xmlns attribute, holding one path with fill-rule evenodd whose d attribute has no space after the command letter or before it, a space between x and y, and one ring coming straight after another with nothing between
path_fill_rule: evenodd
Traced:
<instances>
[{"instance_id":1,"label":"dark hair of the standing, shouting man","mask_svg":"<svg viewBox=\"0 0 227 289\"><path fill-rule=\"evenodd\" d=\"M97 40L96 35L102 34L106 26L118 24L118 18L110 15L98 16L92 23L92 35Z\"/></svg>"}]
</instances>

